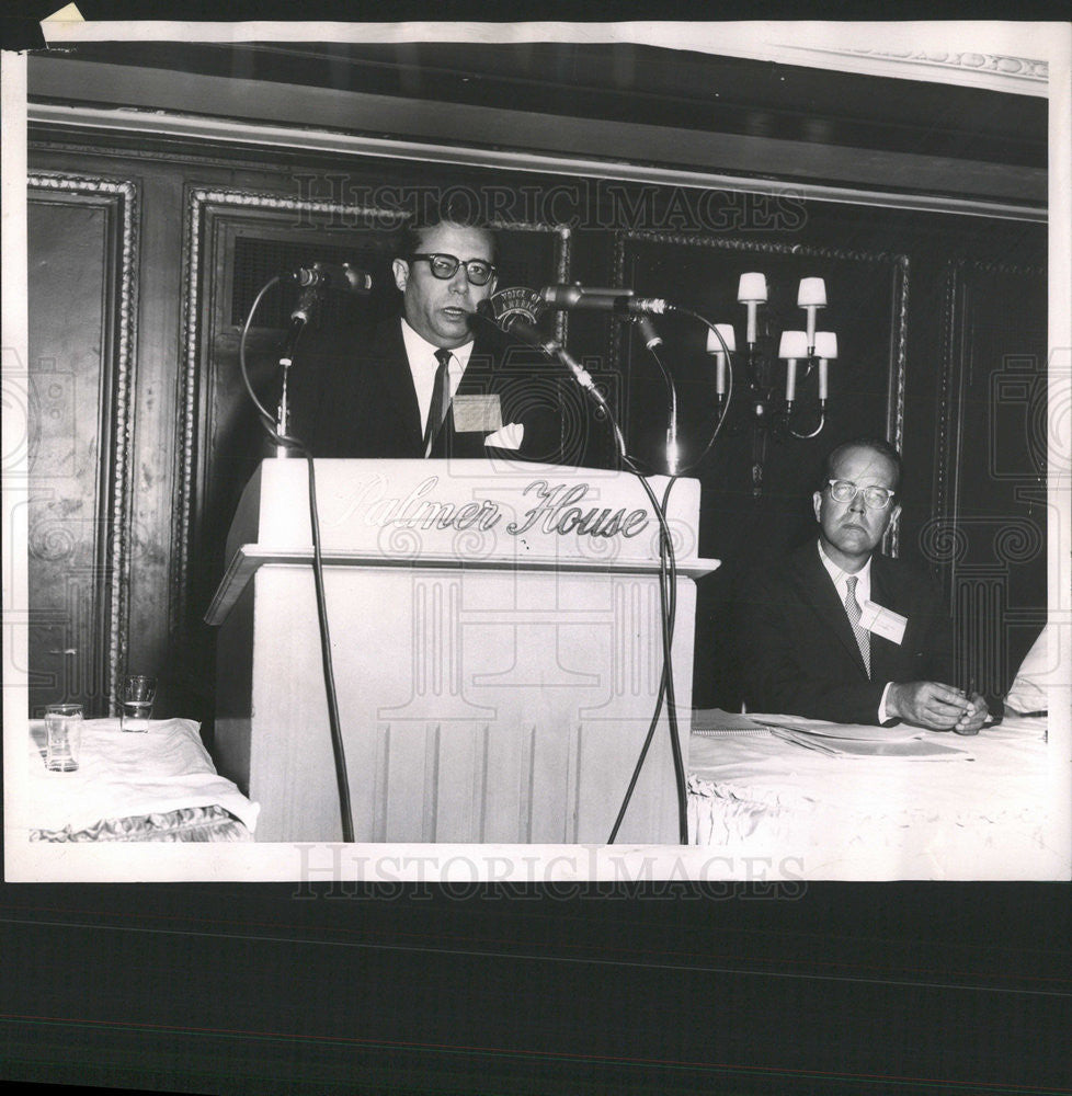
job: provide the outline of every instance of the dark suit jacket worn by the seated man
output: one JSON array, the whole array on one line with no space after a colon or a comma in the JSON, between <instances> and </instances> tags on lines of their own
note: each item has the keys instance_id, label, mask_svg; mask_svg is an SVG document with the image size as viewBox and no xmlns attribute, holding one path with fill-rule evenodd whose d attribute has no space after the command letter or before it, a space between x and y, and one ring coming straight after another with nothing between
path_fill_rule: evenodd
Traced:
<instances>
[{"instance_id":1,"label":"dark suit jacket worn by the seated man","mask_svg":"<svg viewBox=\"0 0 1072 1096\"><path fill-rule=\"evenodd\" d=\"M887 682L961 685L953 626L930 579L901 560L871 557L871 601L908 618L898 646L871 635L871 676L845 607L812 540L783 567L757 571L742 595L741 675L751 711L877 723Z\"/></svg>"}]
</instances>

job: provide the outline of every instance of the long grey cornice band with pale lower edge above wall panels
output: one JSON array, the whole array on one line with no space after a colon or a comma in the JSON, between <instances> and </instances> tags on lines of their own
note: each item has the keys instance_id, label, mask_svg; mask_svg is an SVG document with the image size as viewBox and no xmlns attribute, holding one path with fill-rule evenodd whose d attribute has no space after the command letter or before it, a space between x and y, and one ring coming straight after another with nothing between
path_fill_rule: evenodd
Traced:
<instances>
[{"instance_id":1,"label":"long grey cornice band with pale lower edge above wall panels","mask_svg":"<svg viewBox=\"0 0 1072 1096\"><path fill-rule=\"evenodd\" d=\"M617 179L684 174L704 181L695 185L791 189L829 201L868 195L868 204L1031 220L1045 219L1047 204L1038 168L71 58L31 58L28 99L30 119L42 124L215 134L231 144L384 156L410 148L438 162Z\"/></svg>"}]
</instances>

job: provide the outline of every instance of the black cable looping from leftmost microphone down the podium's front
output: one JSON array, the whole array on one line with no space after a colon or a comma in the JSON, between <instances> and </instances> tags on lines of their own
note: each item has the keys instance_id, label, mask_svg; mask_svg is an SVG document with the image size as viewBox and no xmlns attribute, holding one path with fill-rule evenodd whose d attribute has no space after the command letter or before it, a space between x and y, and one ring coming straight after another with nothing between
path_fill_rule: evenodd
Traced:
<instances>
[{"instance_id":1,"label":"black cable looping from leftmost microphone down the podium's front","mask_svg":"<svg viewBox=\"0 0 1072 1096\"><path fill-rule=\"evenodd\" d=\"M264 294L273 285L277 284L281 277L276 275L266 282L258 293L250 306L249 316L242 327L242 335L238 343L238 363L242 374L242 383L250 400L258 411L258 421L269 437L280 447L293 449L305 457L309 471L309 525L312 532L312 579L317 595L317 624L320 630L320 662L323 672L324 693L328 701L328 727L331 734L331 749L335 765L335 783L339 787L339 808L342 821L342 840L347 844L354 842L354 814L350 801L350 779L346 775L346 753L342 741L342 724L339 718L339 699L335 689L335 673L331 659L331 636L328 630L328 607L323 589L323 556L320 545L320 516L317 507L317 477L312 455L305 443L297 437L281 434L275 429L275 419L265 410L264 406L256 397L253 386L250 383L249 369L246 363L246 341L249 334L253 316L261 304ZM287 367L288 368L288 367ZM284 379L284 384L285 384Z\"/></svg>"}]
</instances>

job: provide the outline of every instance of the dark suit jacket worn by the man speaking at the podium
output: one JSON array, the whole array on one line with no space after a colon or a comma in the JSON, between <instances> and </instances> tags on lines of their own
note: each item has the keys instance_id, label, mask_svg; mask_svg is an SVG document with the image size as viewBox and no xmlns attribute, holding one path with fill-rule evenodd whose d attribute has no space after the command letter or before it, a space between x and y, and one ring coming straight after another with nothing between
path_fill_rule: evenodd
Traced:
<instances>
[{"instance_id":1,"label":"dark suit jacket worn by the man speaking at the podium","mask_svg":"<svg viewBox=\"0 0 1072 1096\"><path fill-rule=\"evenodd\" d=\"M526 347L478 339L455 396L497 395L502 423L521 423L526 460L558 463L563 453L561 393ZM290 370L290 434L316 457L419 458L423 431L400 320L299 347ZM480 457L488 432L458 432L448 413L433 457Z\"/></svg>"}]
</instances>

